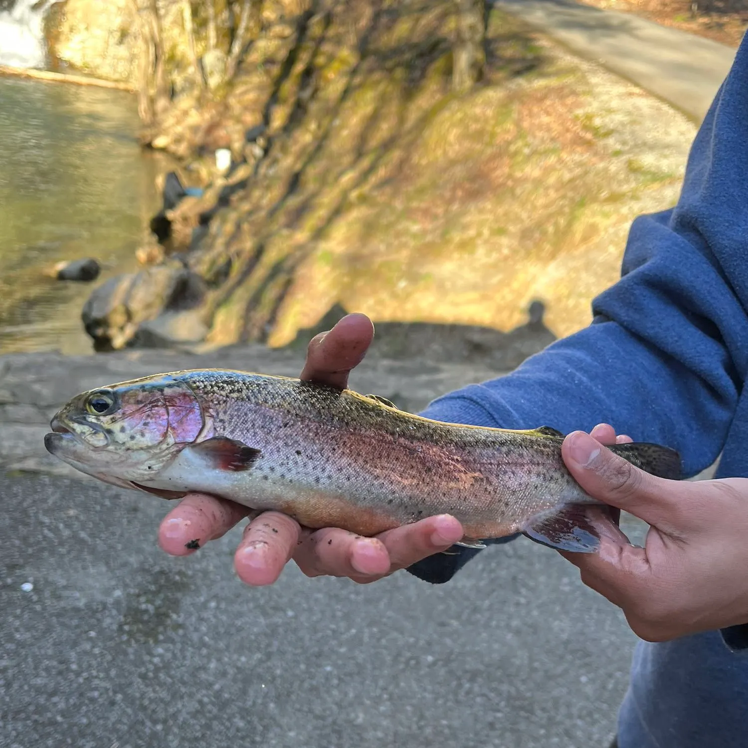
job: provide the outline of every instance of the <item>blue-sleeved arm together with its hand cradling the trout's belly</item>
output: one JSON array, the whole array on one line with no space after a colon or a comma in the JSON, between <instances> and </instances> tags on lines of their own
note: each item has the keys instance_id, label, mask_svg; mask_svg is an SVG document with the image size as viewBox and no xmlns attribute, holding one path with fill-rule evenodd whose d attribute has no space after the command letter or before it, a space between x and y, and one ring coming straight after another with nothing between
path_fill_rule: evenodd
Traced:
<instances>
[{"instance_id":1,"label":"blue-sleeved arm together with its hand cradling the trout's belly","mask_svg":"<svg viewBox=\"0 0 748 748\"><path fill-rule=\"evenodd\" d=\"M678 206L634 221L623 278L595 300L594 324L512 375L438 399L426 414L505 427L545 422L564 431L609 420L637 440L676 447L687 474L713 461L748 357L747 45L699 131ZM347 317L325 340L313 341L307 374L317 381L336 377L341 386L371 337L366 318ZM167 515L159 542L171 554L193 553L184 544L196 529L210 540L245 514L230 502L192 494ZM461 532L454 518L440 516L375 539L334 528L303 534L290 518L269 512L248 525L235 568L245 582L267 584L294 558L310 575L369 582L397 568L413 570Z\"/></svg>"}]
</instances>

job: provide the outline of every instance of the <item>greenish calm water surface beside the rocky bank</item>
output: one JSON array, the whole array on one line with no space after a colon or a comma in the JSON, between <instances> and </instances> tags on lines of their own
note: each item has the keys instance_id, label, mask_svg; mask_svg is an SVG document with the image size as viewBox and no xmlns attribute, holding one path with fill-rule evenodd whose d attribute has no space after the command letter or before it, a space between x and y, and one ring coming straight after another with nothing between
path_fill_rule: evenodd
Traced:
<instances>
[{"instance_id":1,"label":"greenish calm water surface beside the rocky bank","mask_svg":"<svg viewBox=\"0 0 748 748\"><path fill-rule=\"evenodd\" d=\"M80 312L96 284L135 269L162 165L135 139L122 91L0 77L0 353L91 352ZM95 283L45 275L95 257Z\"/></svg>"}]
</instances>

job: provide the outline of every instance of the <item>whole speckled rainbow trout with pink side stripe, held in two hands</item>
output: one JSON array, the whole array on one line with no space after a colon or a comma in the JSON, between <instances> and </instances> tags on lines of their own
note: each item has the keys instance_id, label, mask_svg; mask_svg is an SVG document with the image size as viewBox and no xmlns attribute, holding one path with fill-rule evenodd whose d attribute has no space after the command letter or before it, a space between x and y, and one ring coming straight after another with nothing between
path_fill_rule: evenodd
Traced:
<instances>
[{"instance_id":1,"label":"whole speckled rainbow trout with pink side stripe, held in two hands","mask_svg":"<svg viewBox=\"0 0 748 748\"><path fill-rule=\"evenodd\" d=\"M46 449L102 481L168 499L202 491L311 528L373 536L447 513L465 528L462 545L524 533L591 552L611 521L565 468L555 429L441 423L294 378L189 370L135 379L74 397L51 427ZM666 447L610 448L680 477Z\"/></svg>"}]
</instances>

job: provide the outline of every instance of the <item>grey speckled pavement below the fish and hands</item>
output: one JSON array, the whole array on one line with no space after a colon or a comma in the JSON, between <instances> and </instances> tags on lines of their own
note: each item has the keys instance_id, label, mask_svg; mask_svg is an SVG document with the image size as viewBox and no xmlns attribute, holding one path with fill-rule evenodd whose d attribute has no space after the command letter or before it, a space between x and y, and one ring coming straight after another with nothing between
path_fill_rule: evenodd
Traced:
<instances>
[{"instance_id":1,"label":"grey speckled pavement below the fish and hands","mask_svg":"<svg viewBox=\"0 0 748 748\"><path fill-rule=\"evenodd\" d=\"M444 586L289 565L249 589L231 566L237 530L163 554L155 498L1 474L0 497L2 748L610 741L633 634L529 540Z\"/></svg>"}]
</instances>

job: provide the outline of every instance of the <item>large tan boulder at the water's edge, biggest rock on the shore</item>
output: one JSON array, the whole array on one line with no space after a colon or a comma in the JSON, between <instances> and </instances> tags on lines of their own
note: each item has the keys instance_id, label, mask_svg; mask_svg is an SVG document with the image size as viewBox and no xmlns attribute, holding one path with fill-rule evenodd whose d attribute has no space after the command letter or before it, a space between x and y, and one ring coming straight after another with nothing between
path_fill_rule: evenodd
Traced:
<instances>
[{"instance_id":1,"label":"large tan boulder at the water's edge, biggest rock on the shore","mask_svg":"<svg viewBox=\"0 0 748 748\"><path fill-rule=\"evenodd\" d=\"M202 278L180 263L150 267L95 289L83 307L82 322L96 351L122 349L144 322L199 306L205 290Z\"/></svg>"}]
</instances>

